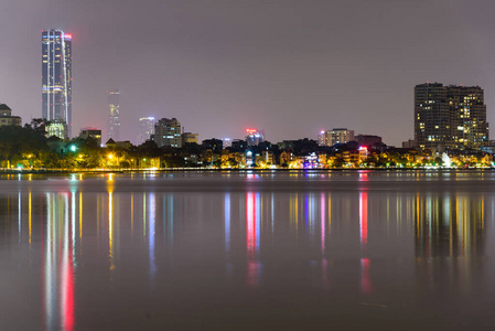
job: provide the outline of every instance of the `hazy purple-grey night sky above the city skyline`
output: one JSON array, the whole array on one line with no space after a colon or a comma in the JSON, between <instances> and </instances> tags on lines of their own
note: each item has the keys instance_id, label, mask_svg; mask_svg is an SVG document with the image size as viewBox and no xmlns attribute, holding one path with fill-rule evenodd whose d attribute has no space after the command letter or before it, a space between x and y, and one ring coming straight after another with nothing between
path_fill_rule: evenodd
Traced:
<instances>
[{"instance_id":1,"label":"hazy purple-grey night sky above the city skyline","mask_svg":"<svg viewBox=\"0 0 495 331\"><path fill-rule=\"evenodd\" d=\"M132 142L154 116L201 140L346 127L400 145L427 81L482 86L495 128L494 12L472 0L4 0L0 103L41 117L41 31L54 28L73 34L74 134L106 137L106 92L119 88Z\"/></svg>"}]
</instances>

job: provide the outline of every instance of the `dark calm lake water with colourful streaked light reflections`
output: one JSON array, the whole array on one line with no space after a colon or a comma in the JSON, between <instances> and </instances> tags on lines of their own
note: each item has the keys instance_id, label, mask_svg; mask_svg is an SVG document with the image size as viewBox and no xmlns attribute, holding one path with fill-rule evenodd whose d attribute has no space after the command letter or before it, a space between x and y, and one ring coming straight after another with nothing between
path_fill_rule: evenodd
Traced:
<instances>
[{"instance_id":1,"label":"dark calm lake water with colourful streaked light reflections","mask_svg":"<svg viewBox=\"0 0 495 331\"><path fill-rule=\"evenodd\" d=\"M0 330L493 330L495 174L0 178Z\"/></svg>"}]
</instances>

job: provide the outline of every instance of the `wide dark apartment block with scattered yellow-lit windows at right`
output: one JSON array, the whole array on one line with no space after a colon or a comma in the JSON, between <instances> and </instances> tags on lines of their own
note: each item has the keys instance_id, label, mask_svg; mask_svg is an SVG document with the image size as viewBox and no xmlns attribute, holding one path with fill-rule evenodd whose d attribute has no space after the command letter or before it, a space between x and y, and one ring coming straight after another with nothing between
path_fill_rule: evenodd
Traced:
<instances>
[{"instance_id":1,"label":"wide dark apartment block with scattered yellow-lit windows at right","mask_svg":"<svg viewBox=\"0 0 495 331\"><path fill-rule=\"evenodd\" d=\"M480 86L415 87L415 140L421 149L480 148L488 141L486 105Z\"/></svg>"}]
</instances>

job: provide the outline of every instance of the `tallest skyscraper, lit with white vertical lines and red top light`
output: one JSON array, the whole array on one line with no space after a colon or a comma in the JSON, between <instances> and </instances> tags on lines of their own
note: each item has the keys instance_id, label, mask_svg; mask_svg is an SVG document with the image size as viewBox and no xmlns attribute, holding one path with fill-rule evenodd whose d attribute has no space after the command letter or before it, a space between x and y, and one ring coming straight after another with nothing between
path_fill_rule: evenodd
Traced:
<instances>
[{"instance_id":1,"label":"tallest skyscraper, lit with white vertical lines and red top light","mask_svg":"<svg viewBox=\"0 0 495 331\"><path fill-rule=\"evenodd\" d=\"M42 31L42 117L67 125L72 137L72 35Z\"/></svg>"}]
</instances>

